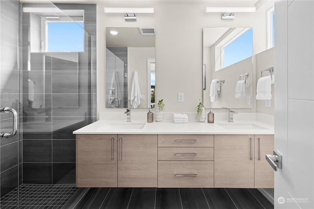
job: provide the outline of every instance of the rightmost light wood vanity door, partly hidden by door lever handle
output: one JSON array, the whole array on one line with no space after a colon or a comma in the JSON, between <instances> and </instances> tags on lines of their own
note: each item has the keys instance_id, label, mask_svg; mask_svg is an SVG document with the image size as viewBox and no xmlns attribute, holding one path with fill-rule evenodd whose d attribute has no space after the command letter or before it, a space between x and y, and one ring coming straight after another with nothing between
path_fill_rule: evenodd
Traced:
<instances>
[{"instance_id":1,"label":"rightmost light wood vanity door, partly hidden by door lever handle","mask_svg":"<svg viewBox=\"0 0 314 209\"><path fill-rule=\"evenodd\" d=\"M274 170L265 154L274 150L274 135L255 135L255 188L274 188Z\"/></svg>"}]
</instances>

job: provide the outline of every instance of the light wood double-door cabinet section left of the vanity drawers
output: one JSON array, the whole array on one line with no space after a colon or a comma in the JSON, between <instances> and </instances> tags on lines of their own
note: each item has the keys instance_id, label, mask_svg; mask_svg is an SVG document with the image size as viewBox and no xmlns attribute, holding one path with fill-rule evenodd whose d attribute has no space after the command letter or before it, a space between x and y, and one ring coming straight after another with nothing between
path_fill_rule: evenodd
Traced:
<instances>
[{"instance_id":1,"label":"light wood double-door cabinet section left of the vanity drawers","mask_svg":"<svg viewBox=\"0 0 314 209\"><path fill-rule=\"evenodd\" d=\"M77 187L157 187L157 135L77 135Z\"/></svg>"}]
</instances>

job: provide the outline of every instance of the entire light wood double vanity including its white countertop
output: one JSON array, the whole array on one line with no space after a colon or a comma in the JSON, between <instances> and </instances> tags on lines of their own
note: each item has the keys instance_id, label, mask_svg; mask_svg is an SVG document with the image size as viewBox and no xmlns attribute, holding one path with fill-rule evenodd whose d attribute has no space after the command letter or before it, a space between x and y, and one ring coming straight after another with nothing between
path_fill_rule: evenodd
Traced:
<instances>
[{"instance_id":1,"label":"entire light wood double vanity including its white countertop","mask_svg":"<svg viewBox=\"0 0 314 209\"><path fill-rule=\"evenodd\" d=\"M224 124L99 120L74 132L77 186L272 188L273 126Z\"/></svg>"}]
</instances>

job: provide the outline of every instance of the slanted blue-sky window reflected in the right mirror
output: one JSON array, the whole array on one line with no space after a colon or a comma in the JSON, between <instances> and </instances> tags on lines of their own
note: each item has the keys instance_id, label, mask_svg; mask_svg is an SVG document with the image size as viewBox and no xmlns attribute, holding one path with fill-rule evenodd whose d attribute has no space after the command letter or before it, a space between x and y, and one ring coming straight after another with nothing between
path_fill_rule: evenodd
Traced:
<instances>
[{"instance_id":1,"label":"slanted blue-sky window reflected in the right mirror","mask_svg":"<svg viewBox=\"0 0 314 209\"><path fill-rule=\"evenodd\" d=\"M253 55L253 29L241 31L231 42L222 46L222 68Z\"/></svg>"}]
</instances>

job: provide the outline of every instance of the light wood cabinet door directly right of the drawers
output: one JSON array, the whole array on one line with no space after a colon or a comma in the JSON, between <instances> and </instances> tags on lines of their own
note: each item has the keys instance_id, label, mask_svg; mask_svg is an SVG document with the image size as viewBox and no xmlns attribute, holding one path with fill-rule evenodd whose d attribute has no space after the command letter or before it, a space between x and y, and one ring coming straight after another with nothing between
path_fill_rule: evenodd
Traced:
<instances>
[{"instance_id":1,"label":"light wood cabinet door directly right of the drawers","mask_svg":"<svg viewBox=\"0 0 314 209\"><path fill-rule=\"evenodd\" d=\"M254 135L214 136L214 186L254 187Z\"/></svg>"}]
</instances>

